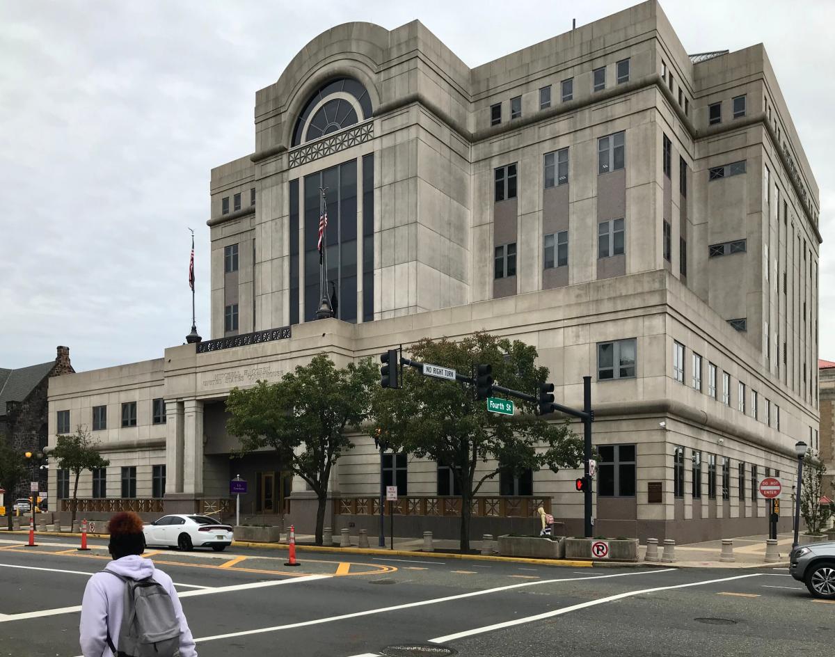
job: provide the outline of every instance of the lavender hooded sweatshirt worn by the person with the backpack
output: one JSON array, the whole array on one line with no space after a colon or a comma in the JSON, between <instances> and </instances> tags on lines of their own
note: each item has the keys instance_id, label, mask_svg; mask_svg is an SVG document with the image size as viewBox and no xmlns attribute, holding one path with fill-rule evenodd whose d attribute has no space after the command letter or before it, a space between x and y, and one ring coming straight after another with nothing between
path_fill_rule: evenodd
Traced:
<instances>
[{"instance_id":1,"label":"lavender hooded sweatshirt worn by the person with the backpack","mask_svg":"<svg viewBox=\"0 0 835 657\"><path fill-rule=\"evenodd\" d=\"M130 554L108 564L108 569L123 577L144 579L154 577L171 596L174 611L180 621L180 656L197 657L195 639L191 637L189 625L185 622L180 598L171 583L171 578L161 570L154 569L150 559ZM96 573L87 582L81 603L81 652L83 657L111 657L113 654L107 644L107 630L110 640L119 645L119 629L122 626L124 611L124 582L108 573Z\"/></svg>"}]
</instances>

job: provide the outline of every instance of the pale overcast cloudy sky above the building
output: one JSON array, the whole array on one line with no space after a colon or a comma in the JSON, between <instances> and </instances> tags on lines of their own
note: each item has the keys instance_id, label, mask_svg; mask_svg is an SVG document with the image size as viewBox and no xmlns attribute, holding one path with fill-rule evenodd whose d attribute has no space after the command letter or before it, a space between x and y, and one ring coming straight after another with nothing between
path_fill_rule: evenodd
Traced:
<instances>
[{"instance_id":1,"label":"pale overcast cloudy sky above the building","mask_svg":"<svg viewBox=\"0 0 835 657\"><path fill-rule=\"evenodd\" d=\"M76 371L210 336L210 169L254 150L256 89L318 33L418 18L469 66L630 7L586 3L0 3L0 367ZM835 360L835 3L662 3L690 53L765 43L821 189L821 356ZM310 7L310 8L308 8Z\"/></svg>"}]
</instances>

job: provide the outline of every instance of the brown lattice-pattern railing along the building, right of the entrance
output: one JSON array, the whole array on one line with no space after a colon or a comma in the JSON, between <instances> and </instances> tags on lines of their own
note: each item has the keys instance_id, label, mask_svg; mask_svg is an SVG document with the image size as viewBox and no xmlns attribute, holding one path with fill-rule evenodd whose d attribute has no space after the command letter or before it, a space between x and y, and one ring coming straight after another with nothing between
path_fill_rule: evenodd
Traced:
<instances>
[{"instance_id":1,"label":"brown lattice-pattern railing along the building, right of the entrance","mask_svg":"<svg viewBox=\"0 0 835 657\"><path fill-rule=\"evenodd\" d=\"M533 518L542 504L551 513L550 498L478 497L473 498L473 516L483 518ZM377 515L380 499L372 497L339 498L334 506L339 515ZM461 498L406 497L386 502L385 512L402 516L461 516Z\"/></svg>"}]
</instances>

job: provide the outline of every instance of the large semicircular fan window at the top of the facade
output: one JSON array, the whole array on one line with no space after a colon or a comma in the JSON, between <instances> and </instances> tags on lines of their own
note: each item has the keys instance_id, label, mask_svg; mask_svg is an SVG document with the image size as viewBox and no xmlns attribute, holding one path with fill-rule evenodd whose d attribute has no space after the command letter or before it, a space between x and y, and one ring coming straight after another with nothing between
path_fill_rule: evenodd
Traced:
<instances>
[{"instance_id":1,"label":"large semicircular fan window at the top of the facade","mask_svg":"<svg viewBox=\"0 0 835 657\"><path fill-rule=\"evenodd\" d=\"M328 96L340 93L352 96L355 103L345 98L344 95L326 100ZM326 102L323 103L323 101ZM357 106L362 111L362 119L357 116ZM316 114L313 115L308 125L307 119L314 109L316 109ZM316 93L313 93L305 104L305 108L301 110L299 118L296 119L296 129L293 130L291 145L304 144L311 139L318 139L325 134L336 132L370 118L371 99L361 83L353 78L331 80L323 84Z\"/></svg>"}]
</instances>

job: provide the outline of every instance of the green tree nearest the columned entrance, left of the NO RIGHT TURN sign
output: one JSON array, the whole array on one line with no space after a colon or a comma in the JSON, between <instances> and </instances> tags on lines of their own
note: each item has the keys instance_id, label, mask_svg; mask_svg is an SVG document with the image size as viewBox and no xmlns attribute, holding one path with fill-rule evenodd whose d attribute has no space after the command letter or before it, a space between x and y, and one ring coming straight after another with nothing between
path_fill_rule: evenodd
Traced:
<instances>
[{"instance_id":1,"label":"green tree nearest the columned entrance, left of the NO RIGHT TURN sign","mask_svg":"<svg viewBox=\"0 0 835 657\"><path fill-rule=\"evenodd\" d=\"M231 414L226 427L240 437L241 453L272 447L316 493L316 545L322 542L331 469L352 447L345 430L366 420L376 380L377 368L368 358L337 368L319 354L280 382L234 388L226 400Z\"/></svg>"}]
</instances>

